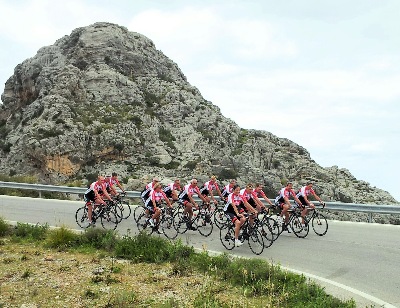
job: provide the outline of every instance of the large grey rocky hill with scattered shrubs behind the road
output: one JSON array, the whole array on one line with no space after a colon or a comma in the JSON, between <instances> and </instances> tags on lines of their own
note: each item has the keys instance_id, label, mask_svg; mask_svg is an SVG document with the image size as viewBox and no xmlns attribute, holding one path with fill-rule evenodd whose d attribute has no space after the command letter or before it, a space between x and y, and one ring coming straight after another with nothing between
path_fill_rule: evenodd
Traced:
<instances>
[{"instance_id":1,"label":"large grey rocky hill with scattered shrubs behind the road","mask_svg":"<svg viewBox=\"0 0 400 308\"><path fill-rule=\"evenodd\" d=\"M41 48L17 65L1 99L3 174L47 183L114 170L136 183L216 174L264 183L269 197L286 179L313 180L325 200L396 202L288 139L241 129L150 39L118 25L78 28Z\"/></svg>"}]
</instances>

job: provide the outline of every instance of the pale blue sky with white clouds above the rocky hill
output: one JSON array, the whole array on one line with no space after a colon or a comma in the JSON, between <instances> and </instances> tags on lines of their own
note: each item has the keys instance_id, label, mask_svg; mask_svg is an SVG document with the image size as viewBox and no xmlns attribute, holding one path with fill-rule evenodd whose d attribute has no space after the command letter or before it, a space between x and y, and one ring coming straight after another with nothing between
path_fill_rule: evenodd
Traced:
<instances>
[{"instance_id":1,"label":"pale blue sky with white clouds above the rocky hill","mask_svg":"<svg viewBox=\"0 0 400 308\"><path fill-rule=\"evenodd\" d=\"M0 0L0 92L72 30L139 32L224 116L400 201L400 1Z\"/></svg>"}]
</instances>

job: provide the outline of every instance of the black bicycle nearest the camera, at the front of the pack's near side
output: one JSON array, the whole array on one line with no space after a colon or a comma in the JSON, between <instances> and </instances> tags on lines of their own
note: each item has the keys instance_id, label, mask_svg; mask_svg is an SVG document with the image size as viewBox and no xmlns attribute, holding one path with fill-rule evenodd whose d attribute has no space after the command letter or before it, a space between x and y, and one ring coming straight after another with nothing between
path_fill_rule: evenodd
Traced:
<instances>
[{"instance_id":1,"label":"black bicycle nearest the camera, at the front of the pack's near side","mask_svg":"<svg viewBox=\"0 0 400 308\"><path fill-rule=\"evenodd\" d=\"M251 216L250 214L249 216ZM220 229L219 238L224 246L228 250L232 250L235 247L235 225L229 220L226 228ZM260 255L264 251L264 237L258 229L257 224L250 226L248 216L246 217L245 223L240 228L240 234L238 239L244 243L247 243L250 250L256 254Z\"/></svg>"}]
</instances>

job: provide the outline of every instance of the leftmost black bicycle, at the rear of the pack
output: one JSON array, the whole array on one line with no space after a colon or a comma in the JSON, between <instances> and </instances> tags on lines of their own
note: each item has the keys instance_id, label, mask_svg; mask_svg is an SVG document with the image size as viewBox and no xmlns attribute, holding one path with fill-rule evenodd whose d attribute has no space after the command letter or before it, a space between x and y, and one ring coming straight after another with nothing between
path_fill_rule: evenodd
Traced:
<instances>
[{"instance_id":1,"label":"leftmost black bicycle, at the rear of the pack","mask_svg":"<svg viewBox=\"0 0 400 308\"><path fill-rule=\"evenodd\" d=\"M88 207L85 204L80 207L75 212L75 221L79 227L82 229L86 229L89 226L94 226L96 221L100 219L101 225L105 230L115 230L119 223L119 219L115 214L115 211L112 210L109 203L106 202L106 205L95 205L92 202L92 224L88 225Z\"/></svg>"}]
</instances>

